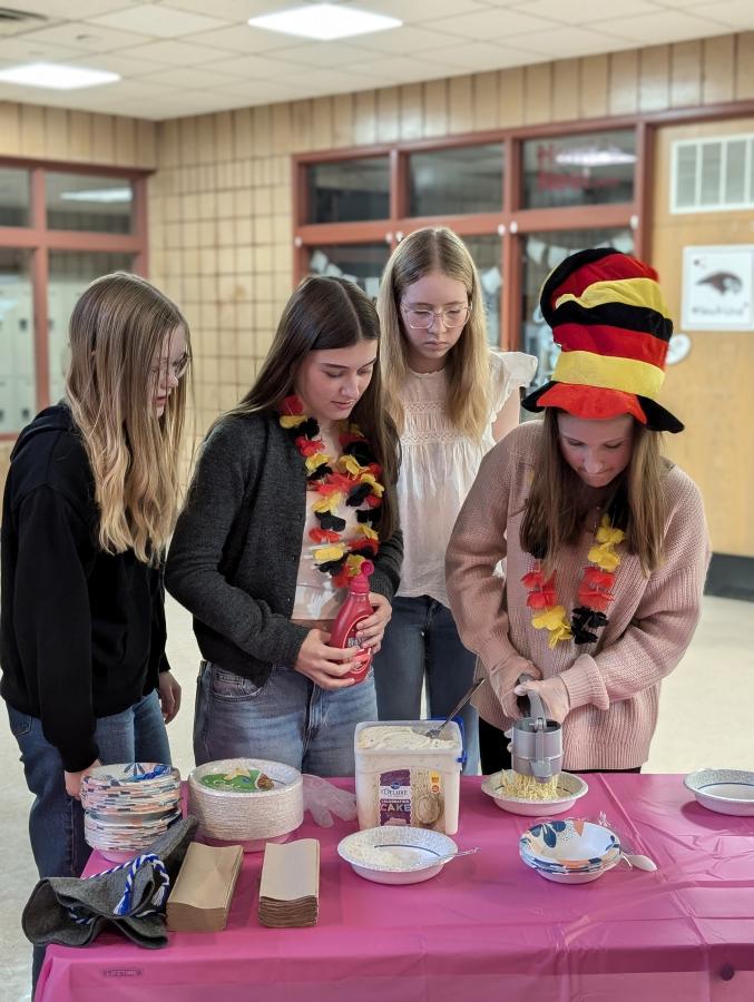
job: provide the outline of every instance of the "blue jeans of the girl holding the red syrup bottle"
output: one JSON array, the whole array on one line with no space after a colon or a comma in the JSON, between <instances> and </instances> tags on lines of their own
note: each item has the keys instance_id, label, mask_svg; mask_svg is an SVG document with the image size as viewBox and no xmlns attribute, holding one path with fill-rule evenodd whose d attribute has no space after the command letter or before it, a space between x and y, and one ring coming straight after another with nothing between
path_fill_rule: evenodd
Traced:
<instances>
[{"instance_id":1,"label":"blue jeans of the girl holding the red syrup bottle","mask_svg":"<svg viewBox=\"0 0 754 1002\"><path fill-rule=\"evenodd\" d=\"M315 776L353 776L353 734L362 720L376 720L371 671L363 682L330 691L284 666L257 686L203 661L194 757L197 765L267 758Z\"/></svg>"}]
</instances>

